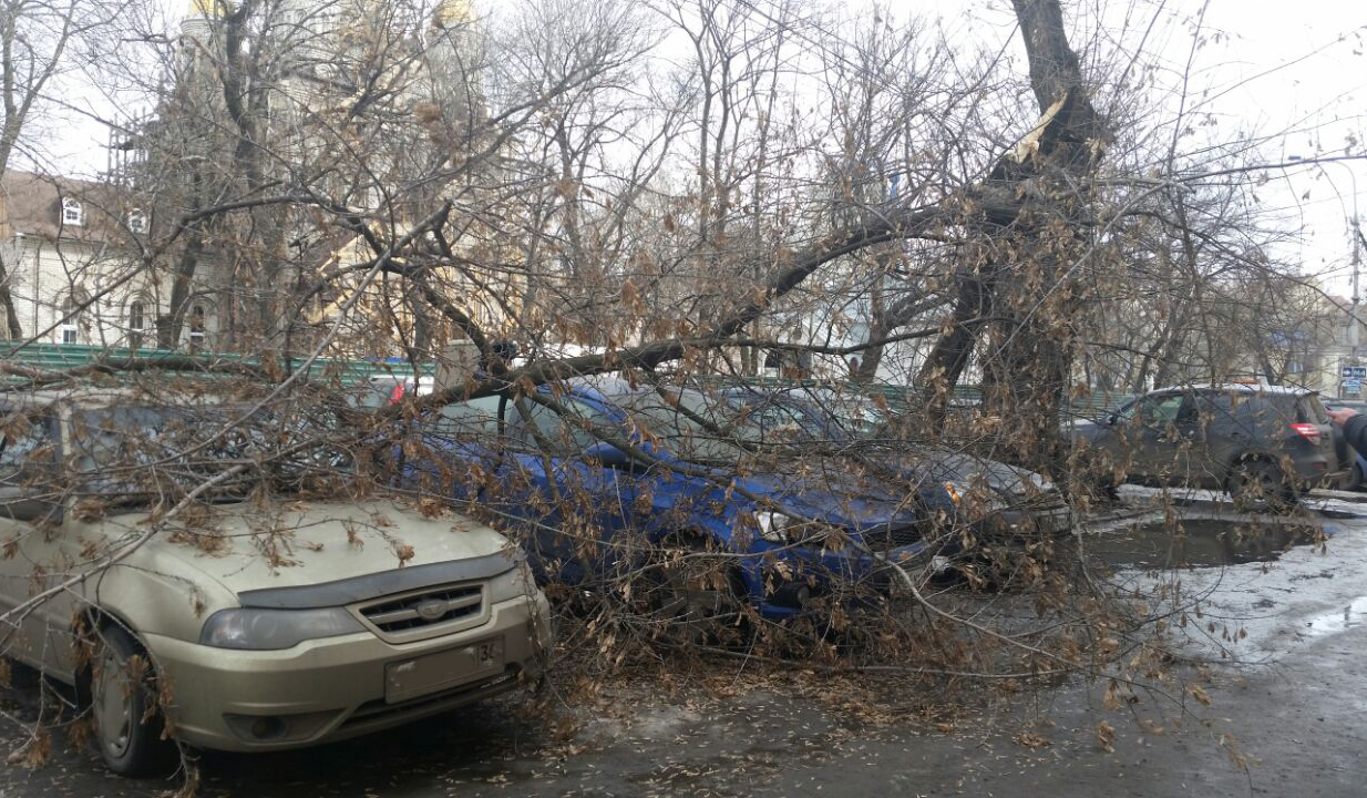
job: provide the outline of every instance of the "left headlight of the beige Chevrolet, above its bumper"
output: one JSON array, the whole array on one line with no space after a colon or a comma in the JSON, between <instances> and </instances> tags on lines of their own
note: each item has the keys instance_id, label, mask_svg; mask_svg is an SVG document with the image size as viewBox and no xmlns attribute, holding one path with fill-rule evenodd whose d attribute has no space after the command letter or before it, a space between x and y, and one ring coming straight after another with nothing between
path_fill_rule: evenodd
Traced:
<instances>
[{"instance_id":1,"label":"left headlight of the beige Chevrolet, above its bumper","mask_svg":"<svg viewBox=\"0 0 1367 798\"><path fill-rule=\"evenodd\" d=\"M217 649L267 652L293 649L303 641L364 632L340 606L321 609L220 609L204 621L200 642Z\"/></svg>"}]
</instances>

